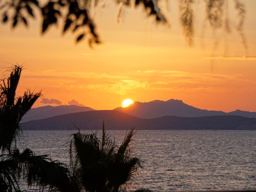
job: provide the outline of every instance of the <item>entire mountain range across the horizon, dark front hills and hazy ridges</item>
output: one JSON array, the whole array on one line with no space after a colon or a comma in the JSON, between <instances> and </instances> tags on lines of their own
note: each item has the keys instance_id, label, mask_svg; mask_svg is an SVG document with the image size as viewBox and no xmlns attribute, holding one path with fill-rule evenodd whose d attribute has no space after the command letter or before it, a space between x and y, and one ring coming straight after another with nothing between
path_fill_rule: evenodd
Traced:
<instances>
[{"instance_id":1,"label":"entire mountain range across the horizon, dark front hills and hazy ridges","mask_svg":"<svg viewBox=\"0 0 256 192\"><path fill-rule=\"evenodd\" d=\"M135 102L127 108L97 111L81 106L44 106L22 118L24 130L59 129L250 129L256 130L256 113L208 111L182 100Z\"/></svg>"}]
</instances>

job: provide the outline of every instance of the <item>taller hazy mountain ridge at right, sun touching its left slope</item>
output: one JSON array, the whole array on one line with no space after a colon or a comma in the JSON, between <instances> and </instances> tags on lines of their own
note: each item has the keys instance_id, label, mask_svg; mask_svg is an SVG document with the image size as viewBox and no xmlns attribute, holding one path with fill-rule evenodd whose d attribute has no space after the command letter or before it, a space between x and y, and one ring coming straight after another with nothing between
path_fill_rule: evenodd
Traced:
<instances>
[{"instance_id":1,"label":"taller hazy mountain ridge at right, sun touching its left slope","mask_svg":"<svg viewBox=\"0 0 256 192\"><path fill-rule=\"evenodd\" d=\"M216 116L216 115L237 115L246 117L256 117L256 112L236 110L229 113L223 111L209 111L207 109L198 109L189 106L182 100L153 100L150 102L134 102L127 108L116 108L116 111L121 111L129 115L138 116L140 118L157 118L161 116L183 116L183 117L198 117L198 116Z\"/></svg>"}]
</instances>

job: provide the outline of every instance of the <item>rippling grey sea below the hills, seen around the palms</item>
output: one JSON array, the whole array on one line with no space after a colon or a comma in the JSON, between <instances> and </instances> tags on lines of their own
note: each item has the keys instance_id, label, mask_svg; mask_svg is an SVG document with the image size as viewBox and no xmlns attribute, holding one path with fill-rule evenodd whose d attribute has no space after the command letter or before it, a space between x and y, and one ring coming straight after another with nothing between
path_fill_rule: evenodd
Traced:
<instances>
[{"instance_id":1,"label":"rippling grey sea below the hills, seen around the palms","mask_svg":"<svg viewBox=\"0 0 256 192\"><path fill-rule=\"evenodd\" d=\"M68 166L74 132L23 131L18 145ZM126 132L108 131L117 145ZM136 131L130 148L141 159L142 168L127 191L256 189L256 131Z\"/></svg>"}]
</instances>

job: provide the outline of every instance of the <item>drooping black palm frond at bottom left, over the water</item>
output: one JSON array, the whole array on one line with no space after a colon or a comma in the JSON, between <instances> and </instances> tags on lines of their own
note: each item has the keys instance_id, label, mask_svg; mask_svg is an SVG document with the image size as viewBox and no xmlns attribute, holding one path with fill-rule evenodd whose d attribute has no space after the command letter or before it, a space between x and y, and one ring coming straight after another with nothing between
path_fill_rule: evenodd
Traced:
<instances>
[{"instance_id":1,"label":"drooping black palm frond at bottom left, over the water","mask_svg":"<svg viewBox=\"0 0 256 192\"><path fill-rule=\"evenodd\" d=\"M28 148L22 153L14 150L10 159L18 163L28 186L48 188L49 191L78 191L70 181L68 168L59 161L52 161L46 155L35 156Z\"/></svg>"}]
</instances>

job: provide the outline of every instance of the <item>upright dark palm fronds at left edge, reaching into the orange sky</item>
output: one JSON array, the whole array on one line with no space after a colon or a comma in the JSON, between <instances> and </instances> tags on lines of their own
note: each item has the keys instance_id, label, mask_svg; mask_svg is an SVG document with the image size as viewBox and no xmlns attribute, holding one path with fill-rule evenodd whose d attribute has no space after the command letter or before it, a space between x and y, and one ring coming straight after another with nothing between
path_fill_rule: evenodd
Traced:
<instances>
[{"instance_id":1,"label":"upright dark palm fronds at left edge, reaching into the orange sky","mask_svg":"<svg viewBox=\"0 0 256 192\"><path fill-rule=\"evenodd\" d=\"M16 137L20 132L19 122L33 106L41 93L32 93L29 90L22 97L15 99L15 92L19 84L22 67L13 66L10 77L0 83L0 149L11 150Z\"/></svg>"}]
</instances>

